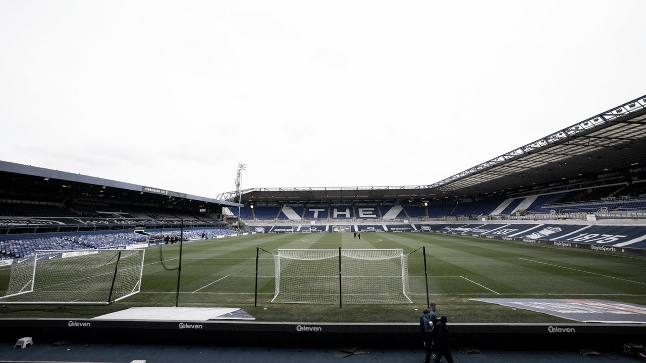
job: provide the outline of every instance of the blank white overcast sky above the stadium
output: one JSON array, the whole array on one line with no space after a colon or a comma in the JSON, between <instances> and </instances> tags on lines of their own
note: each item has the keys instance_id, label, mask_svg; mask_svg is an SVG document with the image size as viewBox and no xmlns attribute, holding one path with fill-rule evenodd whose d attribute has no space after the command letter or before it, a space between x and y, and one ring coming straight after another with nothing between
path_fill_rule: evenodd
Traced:
<instances>
[{"instance_id":1,"label":"blank white overcast sky above the stadium","mask_svg":"<svg viewBox=\"0 0 646 363\"><path fill-rule=\"evenodd\" d=\"M0 160L426 185L646 94L646 1L0 0Z\"/></svg>"}]
</instances>

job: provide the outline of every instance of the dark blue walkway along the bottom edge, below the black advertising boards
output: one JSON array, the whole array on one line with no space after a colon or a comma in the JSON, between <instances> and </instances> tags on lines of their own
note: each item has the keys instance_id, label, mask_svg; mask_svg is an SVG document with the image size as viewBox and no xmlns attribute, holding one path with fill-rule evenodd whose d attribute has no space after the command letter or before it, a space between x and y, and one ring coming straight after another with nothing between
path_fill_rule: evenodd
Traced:
<instances>
[{"instance_id":1,"label":"dark blue walkway along the bottom edge, below the black advertising boards","mask_svg":"<svg viewBox=\"0 0 646 363\"><path fill-rule=\"evenodd\" d=\"M269 349L263 347L217 347L217 346L153 346L127 344L68 344L52 346L38 344L23 349L14 347L16 342L1 342L0 363L4 362L110 362L147 363L190 362L190 363L323 363L323 362L383 362L419 363L424 360L422 349L357 349L358 354L348 355L344 349ZM579 351L490 351L479 354L464 354L453 351L456 363L479 362L545 362L545 363L596 363L596 362L643 362L643 358L627 357L620 352L599 351L600 356L581 355ZM446 360L442 360L446 362Z\"/></svg>"}]
</instances>

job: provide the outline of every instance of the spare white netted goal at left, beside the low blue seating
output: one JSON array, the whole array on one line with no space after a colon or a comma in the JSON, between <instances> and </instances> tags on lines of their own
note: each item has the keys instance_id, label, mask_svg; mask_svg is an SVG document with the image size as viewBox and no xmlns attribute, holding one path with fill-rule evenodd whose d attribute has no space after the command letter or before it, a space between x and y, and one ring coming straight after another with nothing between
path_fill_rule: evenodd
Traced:
<instances>
[{"instance_id":1,"label":"spare white netted goal at left, beside the low blue seating","mask_svg":"<svg viewBox=\"0 0 646 363\"><path fill-rule=\"evenodd\" d=\"M36 251L14 261L0 304L110 304L140 291L143 256L143 249Z\"/></svg>"}]
</instances>

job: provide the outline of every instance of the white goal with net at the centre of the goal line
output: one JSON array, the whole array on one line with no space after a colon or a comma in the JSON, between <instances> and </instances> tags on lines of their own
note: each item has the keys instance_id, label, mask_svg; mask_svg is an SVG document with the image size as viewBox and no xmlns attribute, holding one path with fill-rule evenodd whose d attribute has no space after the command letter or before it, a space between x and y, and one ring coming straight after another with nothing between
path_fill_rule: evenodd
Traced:
<instances>
[{"instance_id":1,"label":"white goal with net at the centre of the goal line","mask_svg":"<svg viewBox=\"0 0 646 363\"><path fill-rule=\"evenodd\" d=\"M271 302L412 304L401 249L279 249Z\"/></svg>"}]
</instances>

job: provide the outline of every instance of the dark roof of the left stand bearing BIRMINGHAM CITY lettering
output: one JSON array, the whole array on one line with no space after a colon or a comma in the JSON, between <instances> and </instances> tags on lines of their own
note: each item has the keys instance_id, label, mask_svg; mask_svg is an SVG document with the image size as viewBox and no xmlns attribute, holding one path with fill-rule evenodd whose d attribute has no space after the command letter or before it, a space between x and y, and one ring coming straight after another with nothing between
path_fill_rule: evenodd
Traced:
<instances>
[{"instance_id":1,"label":"dark roof of the left stand bearing BIRMINGHAM CITY lettering","mask_svg":"<svg viewBox=\"0 0 646 363\"><path fill-rule=\"evenodd\" d=\"M37 202L61 202L72 198L96 203L173 205L191 211L238 206L234 202L8 161L0 161L0 196L2 200Z\"/></svg>"}]
</instances>

